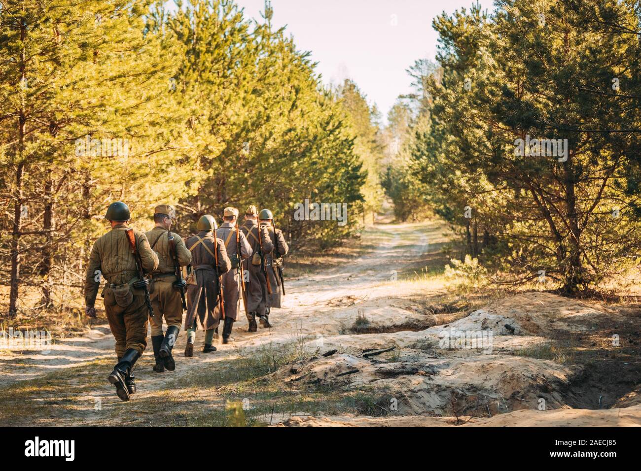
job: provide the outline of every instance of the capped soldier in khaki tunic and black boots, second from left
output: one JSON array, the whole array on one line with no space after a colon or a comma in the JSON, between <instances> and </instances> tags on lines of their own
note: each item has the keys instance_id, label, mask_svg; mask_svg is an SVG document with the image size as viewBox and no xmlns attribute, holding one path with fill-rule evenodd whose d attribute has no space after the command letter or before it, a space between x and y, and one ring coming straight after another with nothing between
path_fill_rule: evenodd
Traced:
<instances>
[{"instance_id":1,"label":"capped soldier in khaki tunic and black boots, second from left","mask_svg":"<svg viewBox=\"0 0 641 471\"><path fill-rule=\"evenodd\" d=\"M169 231L172 219L175 217L176 210L173 206L169 204L156 206L154 210L156 227L146 234L151 249L156 252L159 261L158 269L151 274L153 279L151 304L154 309L154 317L149 319L151 322L151 344L154 348L154 358L156 358L156 365L153 369L157 373L162 373L165 368L169 371L176 369L176 362L171 351L183 323L183 303L179 285L184 285L185 282L179 283L176 277L174 257L178 260L179 267L186 267L192 261L192 253L187 250L180 236ZM185 286L182 289L185 289ZM163 316L167 322L167 332L164 336L162 333Z\"/></svg>"}]
</instances>

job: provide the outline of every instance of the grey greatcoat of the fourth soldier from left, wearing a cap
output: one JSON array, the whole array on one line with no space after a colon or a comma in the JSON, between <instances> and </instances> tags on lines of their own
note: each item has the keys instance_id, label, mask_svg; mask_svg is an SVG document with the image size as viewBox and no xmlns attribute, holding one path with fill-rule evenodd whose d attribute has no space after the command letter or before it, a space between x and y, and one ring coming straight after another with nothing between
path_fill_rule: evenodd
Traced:
<instances>
[{"instance_id":1,"label":"grey greatcoat of the fourth soldier from left, wearing a cap","mask_svg":"<svg viewBox=\"0 0 641 471\"><path fill-rule=\"evenodd\" d=\"M216 231L216 235L224 241L227 255L231 260L238 252L236 227L230 226L229 222L224 222ZM241 260L246 260L251 256L253 251L242 231L239 230L238 235L240 240L240 258ZM239 301L241 286L240 269L231 269L222 276L222 299L225 301L225 317L232 318L233 320L238 320L238 314L240 313ZM214 316L217 322L221 320L221 308L218 304L214 310Z\"/></svg>"}]
</instances>

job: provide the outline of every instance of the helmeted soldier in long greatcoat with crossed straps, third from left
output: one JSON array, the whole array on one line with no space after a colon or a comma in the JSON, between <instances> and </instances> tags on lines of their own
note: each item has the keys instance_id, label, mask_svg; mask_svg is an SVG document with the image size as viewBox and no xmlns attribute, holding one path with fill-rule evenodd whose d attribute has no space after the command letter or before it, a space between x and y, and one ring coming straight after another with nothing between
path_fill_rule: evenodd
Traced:
<instances>
[{"instance_id":1,"label":"helmeted soldier in long greatcoat with crossed straps, third from left","mask_svg":"<svg viewBox=\"0 0 641 471\"><path fill-rule=\"evenodd\" d=\"M194 342L196 341L197 324L205 329L203 352L215 352L212 345L213 329L218 326L214 315L215 308L219 305L219 279L218 275L225 274L231 269L231 261L227 256L225 244L213 236L216 230L216 220L211 215L204 215L198 220L199 233L191 236L185 242L192 252L192 274L187 281L187 347L185 356L194 356ZM222 290L221 290L222 291Z\"/></svg>"}]
</instances>

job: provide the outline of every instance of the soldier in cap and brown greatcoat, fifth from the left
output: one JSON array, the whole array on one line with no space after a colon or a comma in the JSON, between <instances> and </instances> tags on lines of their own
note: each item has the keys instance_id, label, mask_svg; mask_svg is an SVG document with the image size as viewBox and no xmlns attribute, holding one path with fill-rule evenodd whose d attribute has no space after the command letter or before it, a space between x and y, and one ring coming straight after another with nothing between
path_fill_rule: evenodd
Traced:
<instances>
[{"instance_id":1,"label":"soldier in cap and brown greatcoat, fifth from the left","mask_svg":"<svg viewBox=\"0 0 641 471\"><path fill-rule=\"evenodd\" d=\"M249 274L249 285L246 284L247 293L247 320L249 329L247 332L256 332L256 316L264 326L265 306L267 306L267 281L263 272L262 256L260 254L271 252L274 249L267 227L258 227L258 211L256 206L249 206L245 211L245 221L240 227L247 238L253 252L251 259L244 261L244 268ZM260 231L260 240L258 234ZM262 249L261 249L262 247ZM261 252L262 250L262 252Z\"/></svg>"}]
</instances>

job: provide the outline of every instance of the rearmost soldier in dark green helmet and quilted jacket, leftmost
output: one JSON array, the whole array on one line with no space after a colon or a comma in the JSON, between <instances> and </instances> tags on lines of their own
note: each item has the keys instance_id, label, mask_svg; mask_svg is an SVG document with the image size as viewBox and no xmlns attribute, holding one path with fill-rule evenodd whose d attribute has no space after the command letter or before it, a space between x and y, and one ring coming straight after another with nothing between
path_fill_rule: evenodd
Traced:
<instances>
[{"instance_id":1,"label":"rearmost soldier in dark green helmet and quilted jacket, leftmost","mask_svg":"<svg viewBox=\"0 0 641 471\"><path fill-rule=\"evenodd\" d=\"M136 392L133 367L147 346L146 295L143 288L135 288L138 280L136 255L131 251L126 231L133 231L135 250L140 254L142 269L153 272L158 267L158 256L149 247L147 236L128 227L129 208L124 202L113 202L105 219L112 229L96 240L91 249L85 281L85 313L96 318L96 295L100 277L106 280L103 289L104 310L116 340L118 363L109 375L122 401L129 401Z\"/></svg>"}]
</instances>

